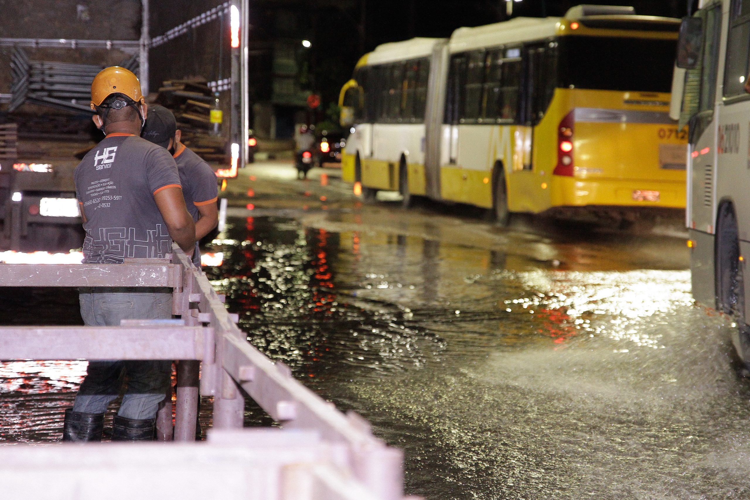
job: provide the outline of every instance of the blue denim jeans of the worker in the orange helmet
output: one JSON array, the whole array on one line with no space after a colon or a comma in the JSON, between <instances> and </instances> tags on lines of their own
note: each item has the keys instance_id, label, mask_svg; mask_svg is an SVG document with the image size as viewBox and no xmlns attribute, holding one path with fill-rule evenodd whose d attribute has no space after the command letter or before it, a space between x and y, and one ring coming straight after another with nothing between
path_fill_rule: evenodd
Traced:
<instances>
[{"instance_id":1,"label":"blue denim jeans of the worker in the orange helmet","mask_svg":"<svg viewBox=\"0 0 750 500\"><path fill-rule=\"evenodd\" d=\"M119 326L121 319L172 318L170 289L80 289L79 298L83 322L89 326ZM89 361L73 411L106 412L127 377L118 415L138 420L154 418L169 388L171 374L171 360Z\"/></svg>"}]
</instances>

